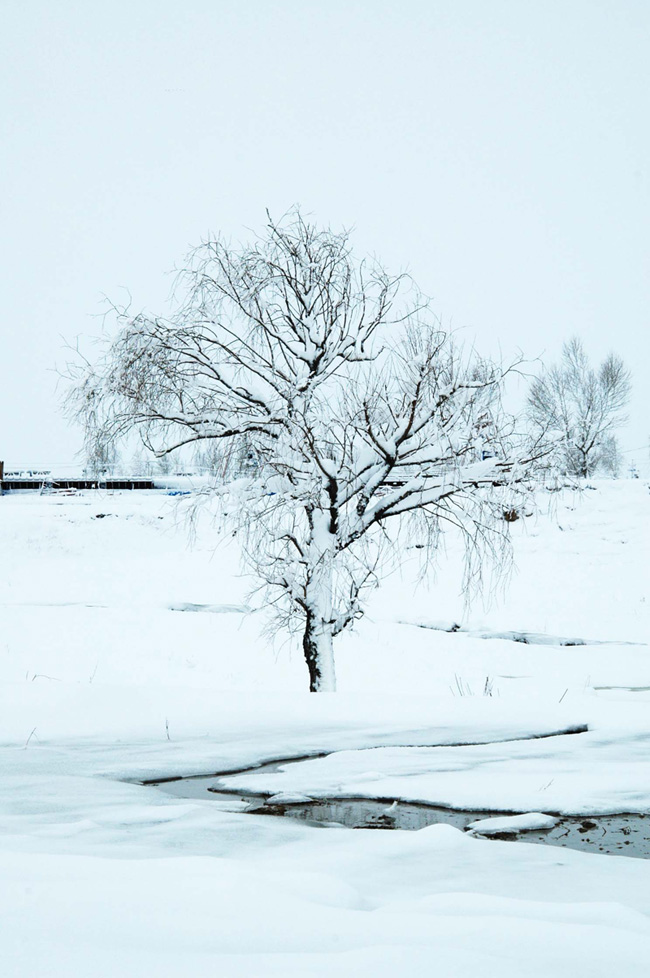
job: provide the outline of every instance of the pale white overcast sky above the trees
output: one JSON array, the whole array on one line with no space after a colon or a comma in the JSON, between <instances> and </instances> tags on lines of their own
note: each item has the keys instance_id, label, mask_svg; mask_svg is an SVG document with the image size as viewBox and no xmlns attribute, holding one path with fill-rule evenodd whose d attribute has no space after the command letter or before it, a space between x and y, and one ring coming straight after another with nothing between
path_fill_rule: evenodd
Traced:
<instances>
[{"instance_id":1,"label":"pale white overcast sky above the trees","mask_svg":"<svg viewBox=\"0 0 650 978\"><path fill-rule=\"evenodd\" d=\"M53 368L103 294L164 311L192 244L294 203L479 348L614 349L647 456L648 0L0 0L0 24L9 466L79 449Z\"/></svg>"}]
</instances>

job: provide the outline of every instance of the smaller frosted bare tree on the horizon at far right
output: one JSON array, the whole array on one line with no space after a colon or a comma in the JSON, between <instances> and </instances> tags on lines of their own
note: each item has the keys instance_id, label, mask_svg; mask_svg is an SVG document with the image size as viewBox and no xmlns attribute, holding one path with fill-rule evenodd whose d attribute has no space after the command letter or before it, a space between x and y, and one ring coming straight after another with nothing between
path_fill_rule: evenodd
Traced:
<instances>
[{"instance_id":1,"label":"smaller frosted bare tree on the horizon at far right","mask_svg":"<svg viewBox=\"0 0 650 978\"><path fill-rule=\"evenodd\" d=\"M533 424L557 440L560 465L586 478L612 459L613 431L625 422L630 373L613 353L594 370L582 342L573 337L560 363L537 377L528 395Z\"/></svg>"}]
</instances>

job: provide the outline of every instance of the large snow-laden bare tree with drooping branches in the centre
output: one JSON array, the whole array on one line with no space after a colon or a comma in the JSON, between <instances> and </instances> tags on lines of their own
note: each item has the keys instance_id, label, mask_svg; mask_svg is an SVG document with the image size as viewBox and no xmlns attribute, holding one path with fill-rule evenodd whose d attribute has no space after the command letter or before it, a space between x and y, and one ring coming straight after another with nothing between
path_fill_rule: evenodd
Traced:
<instances>
[{"instance_id":1,"label":"large snow-laden bare tree with drooping branches in the centre","mask_svg":"<svg viewBox=\"0 0 650 978\"><path fill-rule=\"evenodd\" d=\"M118 311L75 409L92 437L139 429L159 456L234 443L241 477L211 490L282 622L310 689L335 688L333 640L415 534L427 560L460 528L468 574L507 547L504 371L464 357L412 283L354 259L346 232L298 211L234 248L208 240L170 319Z\"/></svg>"}]
</instances>

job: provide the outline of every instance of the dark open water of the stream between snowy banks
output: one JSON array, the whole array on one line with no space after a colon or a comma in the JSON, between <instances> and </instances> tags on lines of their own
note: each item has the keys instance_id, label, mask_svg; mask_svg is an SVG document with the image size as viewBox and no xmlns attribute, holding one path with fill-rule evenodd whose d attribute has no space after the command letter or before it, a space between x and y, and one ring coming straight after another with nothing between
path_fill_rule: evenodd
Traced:
<instances>
[{"instance_id":1,"label":"dark open water of the stream between snowy banks","mask_svg":"<svg viewBox=\"0 0 650 978\"><path fill-rule=\"evenodd\" d=\"M285 762L263 765L251 772L277 768ZM232 774L234 772L228 772ZM238 772L240 773L240 772ZM225 777L226 775L221 775ZM295 818L314 826L345 826L350 829L417 830L443 823L465 830L480 818L512 815L513 812L443 808L422 802L395 801L391 798L321 798L309 801L267 802L263 793L224 790L220 776L178 778L147 782L177 798L212 800L223 810ZM549 813L555 814L555 813ZM532 832L502 832L492 839L544 843L585 852L650 858L650 815L559 815L552 829Z\"/></svg>"}]
</instances>

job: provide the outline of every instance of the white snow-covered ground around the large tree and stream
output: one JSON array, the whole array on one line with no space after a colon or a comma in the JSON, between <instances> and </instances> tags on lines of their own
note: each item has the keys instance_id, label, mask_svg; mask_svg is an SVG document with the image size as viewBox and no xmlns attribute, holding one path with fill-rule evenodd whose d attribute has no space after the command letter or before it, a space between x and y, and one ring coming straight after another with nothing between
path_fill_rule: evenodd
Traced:
<instances>
[{"instance_id":1,"label":"white snow-covered ground around the large tree and stream","mask_svg":"<svg viewBox=\"0 0 650 978\"><path fill-rule=\"evenodd\" d=\"M464 607L453 545L426 588L407 555L340 640L335 696L305 693L297 645L264 636L234 543L202 517L188 544L184 497L2 497L0 973L647 975L646 860L315 828L128 783L332 751L230 780L650 811L650 493L595 486L513 524L517 572L489 606ZM535 644L489 637L512 632Z\"/></svg>"}]
</instances>

